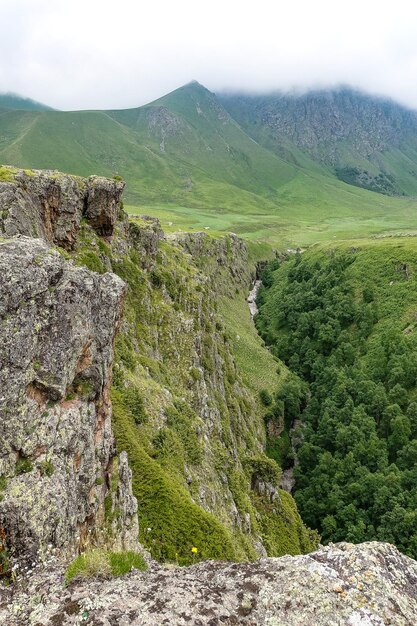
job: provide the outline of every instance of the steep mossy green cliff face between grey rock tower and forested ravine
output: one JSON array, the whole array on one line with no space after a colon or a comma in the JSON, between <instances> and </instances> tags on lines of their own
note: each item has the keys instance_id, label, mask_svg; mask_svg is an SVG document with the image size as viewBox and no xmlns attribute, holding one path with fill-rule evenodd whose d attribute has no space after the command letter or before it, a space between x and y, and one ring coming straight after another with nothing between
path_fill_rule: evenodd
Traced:
<instances>
[{"instance_id":1,"label":"steep mossy green cliff face between grey rock tower and forested ravine","mask_svg":"<svg viewBox=\"0 0 417 626\"><path fill-rule=\"evenodd\" d=\"M259 390L279 386L279 363L262 347L246 295L255 259L271 252L253 246L249 258L235 236L162 235L151 219L121 216L111 243L83 223L76 249L78 263L128 285L113 428L133 472L140 541L179 564L254 559L261 544L273 556L314 549L263 452ZM234 307L245 320L239 349ZM247 369L255 359L259 378Z\"/></svg>"}]
</instances>

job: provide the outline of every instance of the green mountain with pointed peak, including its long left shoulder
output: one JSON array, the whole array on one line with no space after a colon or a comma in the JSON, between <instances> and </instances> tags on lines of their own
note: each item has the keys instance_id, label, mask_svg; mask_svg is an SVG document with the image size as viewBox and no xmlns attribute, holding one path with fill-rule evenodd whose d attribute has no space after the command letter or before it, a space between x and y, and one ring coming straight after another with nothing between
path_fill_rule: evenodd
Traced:
<instances>
[{"instance_id":1,"label":"green mountain with pointed peak, including its long left shoulder","mask_svg":"<svg viewBox=\"0 0 417 626\"><path fill-rule=\"evenodd\" d=\"M120 174L143 202L255 204L273 196L294 168L242 131L204 87L192 83L150 105L125 111L17 113L0 117L1 160L75 174ZM206 192L206 188L209 190ZM245 196L247 198L245 199ZM266 203L268 204L268 203Z\"/></svg>"}]
</instances>

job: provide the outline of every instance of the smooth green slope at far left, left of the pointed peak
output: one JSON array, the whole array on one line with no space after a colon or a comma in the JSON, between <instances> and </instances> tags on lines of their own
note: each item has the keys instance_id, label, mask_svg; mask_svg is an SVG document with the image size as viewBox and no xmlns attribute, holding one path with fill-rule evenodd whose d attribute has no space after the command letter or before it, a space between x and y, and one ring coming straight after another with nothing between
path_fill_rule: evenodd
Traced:
<instances>
[{"instance_id":1,"label":"smooth green slope at far left, left of the pointed peak","mask_svg":"<svg viewBox=\"0 0 417 626\"><path fill-rule=\"evenodd\" d=\"M127 180L140 177L141 188L149 185L149 197L152 186L173 184L163 159L104 112L5 112L0 133L6 137L0 153L4 162L78 175L123 171ZM134 193L134 182L132 188ZM163 193L158 197L163 200Z\"/></svg>"}]
</instances>

